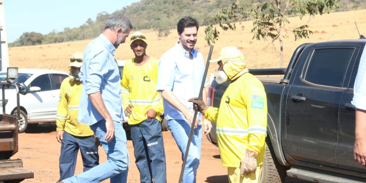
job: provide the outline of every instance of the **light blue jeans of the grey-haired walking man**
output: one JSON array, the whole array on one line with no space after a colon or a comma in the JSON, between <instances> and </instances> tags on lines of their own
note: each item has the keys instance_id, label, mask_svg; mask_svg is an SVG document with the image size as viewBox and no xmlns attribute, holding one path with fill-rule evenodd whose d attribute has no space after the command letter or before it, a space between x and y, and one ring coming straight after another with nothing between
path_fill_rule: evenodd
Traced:
<instances>
[{"instance_id":1,"label":"light blue jeans of the grey-haired walking man","mask_svg":"<svg viewBox=\"0 0 366 183\"><path fill-rule=\"evenodd\" d=\"M102 143L103 149L107 154L107 161L91 168L90 170L62 180L64 183L97 183L111 178L111 183L126 183L128 172L128 151L126 132L122 123L113 121L115 127L115 137L111 142L105 141L107 129L105 120L90 126Z\"/></svg>"}]
</instances>

